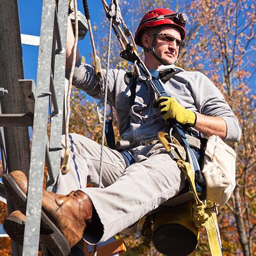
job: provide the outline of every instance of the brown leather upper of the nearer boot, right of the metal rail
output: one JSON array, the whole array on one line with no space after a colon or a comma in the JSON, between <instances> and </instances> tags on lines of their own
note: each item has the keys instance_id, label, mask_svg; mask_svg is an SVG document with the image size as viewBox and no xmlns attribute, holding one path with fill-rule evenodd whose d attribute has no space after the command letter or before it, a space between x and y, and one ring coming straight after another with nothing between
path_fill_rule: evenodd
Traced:
<instances>
[{"instance_id":1,"label":"brown leather upper of the nearer boot, right of the metal rail","mask_svg":"<svg viewBox=\"0 0 256 256\"><path fill-rule=\"evenodd\" d=\"M92 221L93 205L87 194L80 190L65 196L44 191L42 210L73 247L82 239L86 225Z\"/></svg>"}]
</instances>

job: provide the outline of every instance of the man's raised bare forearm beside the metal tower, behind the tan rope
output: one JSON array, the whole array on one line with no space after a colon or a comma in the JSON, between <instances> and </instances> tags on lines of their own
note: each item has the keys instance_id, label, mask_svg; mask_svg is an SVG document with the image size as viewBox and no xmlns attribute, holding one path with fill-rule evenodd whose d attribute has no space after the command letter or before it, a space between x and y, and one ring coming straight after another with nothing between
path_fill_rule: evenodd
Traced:
<instances>
[{"instance_id":1,"label":"man's raised bare forearm beside the metal tower, behind the tan rope","mask_svg":"<svg viewBox=\"0 0 256 256\"><path fill-rule=\"evenodd\" d=\"M74 43L75 43L75 35L72 29L71 20L68 17L68 33L66 38L66 69L70 68L73 60L74 53ZM80 58L80 54L77 48L76 51L76 61Z\"/></svg>"}]
</instances>

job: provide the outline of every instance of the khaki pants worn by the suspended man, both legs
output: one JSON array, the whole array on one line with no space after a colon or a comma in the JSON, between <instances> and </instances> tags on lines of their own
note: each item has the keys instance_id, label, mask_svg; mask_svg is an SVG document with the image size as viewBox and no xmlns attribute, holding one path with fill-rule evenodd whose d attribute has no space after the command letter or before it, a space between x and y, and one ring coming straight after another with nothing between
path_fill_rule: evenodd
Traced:
<instances>
[{"instance_id":1,"label":"khaki pants worn by the suspended man, both legs","mask_svg":"<svg viewBox=\"0 0 256 256\"><path fill-rule=\"evenodd\" d=\"M65 175L59 174L54 192L67 194L81 190L92 199L103 231L86 229L84 239L89 243L106 241L174 197L185 186L184 174L159 143L132 149L135 163L129 167L117 150L105 147L104 188L87 188L87 182L99 184L101 146L73 133L69 137L71 170Z\"/></svg>"}]
</instances>

